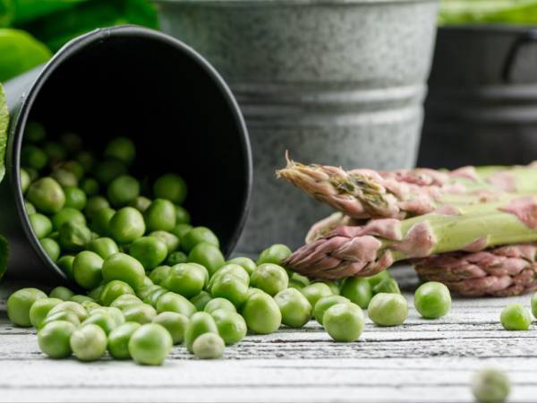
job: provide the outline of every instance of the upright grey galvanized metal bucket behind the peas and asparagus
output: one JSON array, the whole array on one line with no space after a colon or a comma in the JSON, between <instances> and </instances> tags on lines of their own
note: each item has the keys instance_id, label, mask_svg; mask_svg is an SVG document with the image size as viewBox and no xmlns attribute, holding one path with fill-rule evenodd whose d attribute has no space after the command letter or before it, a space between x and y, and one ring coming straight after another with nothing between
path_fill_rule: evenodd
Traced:
<instances>
[{"instance_id":1,"label":"upright grey galvanized metal bucket behind the peas and asparagus","mask_svg":"<svg viewBox=\"0 0 537 403\"><path fill-rule=\"evenodd\" d=\"M303 243L327 213L277 181L284 154L344 167L412 167L436 0L158 0L161 27L206 56L251 134L251 216L239 249Z\"/></svg>"}]
</instances>

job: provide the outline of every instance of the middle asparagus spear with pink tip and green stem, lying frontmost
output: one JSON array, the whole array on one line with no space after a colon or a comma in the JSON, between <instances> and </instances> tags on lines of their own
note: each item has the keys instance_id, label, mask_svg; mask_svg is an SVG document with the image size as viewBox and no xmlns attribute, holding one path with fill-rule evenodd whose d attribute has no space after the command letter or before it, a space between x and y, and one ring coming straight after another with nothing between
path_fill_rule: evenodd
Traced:
<instances>
[{"instance_id":1,"label":"middle asparagus spear with pink tip and green stem, lying frontmost","mask_svg":"<svg viewBox=\"0 0 537 403\"><path fill-rule=\"evenodd\" d=\"M363 226L340 226L295 251L284 264L310 277L338 279L371 276L394 262L437 253L537 242L537 197L457 209L402 221L374 219Z\"/></svg>"}]
</instances>

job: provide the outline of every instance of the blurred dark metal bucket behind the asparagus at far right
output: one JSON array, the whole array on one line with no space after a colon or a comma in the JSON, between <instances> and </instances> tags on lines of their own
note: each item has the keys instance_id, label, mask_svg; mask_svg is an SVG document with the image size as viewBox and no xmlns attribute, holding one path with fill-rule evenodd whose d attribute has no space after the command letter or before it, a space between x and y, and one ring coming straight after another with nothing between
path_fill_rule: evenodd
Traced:
<instances>
[{"instance_id":1,"label":"blurred dark metal bucket behind the asparagus at far right","mask_svg":"<svg viewBox=\"0 0 537 403\"><path fill-rule=\"evenodd\" d=\"M537 29L439 29L418 164L537 159Z\"/></svg>"}]
</instances>

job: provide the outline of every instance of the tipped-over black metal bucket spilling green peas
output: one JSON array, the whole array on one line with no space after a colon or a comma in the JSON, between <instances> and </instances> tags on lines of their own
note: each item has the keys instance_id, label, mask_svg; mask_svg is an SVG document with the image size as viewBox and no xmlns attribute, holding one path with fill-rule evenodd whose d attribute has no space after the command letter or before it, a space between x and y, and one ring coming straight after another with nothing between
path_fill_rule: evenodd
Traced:
<instances>
[{"instance_id":1,"label":"tipped-over black metal bucket spilling green peas","mask_svg":"<svg viewBox=\"0 0 537 403\"><path fill-rule=\"evenodd\" d=\"M226 83L191 47L138 27L96 30L7 82L5 92L12 120L0 233L11 247L8 276L64 277L23 208L20 151L29 121L42 122L49 133L80 133L97 152L109 137L131 137L138 150L133 175L183 176L192 222L211 227L224 253L233 250L250 203L250 143Z\"/></svg>"}]
</instances>

